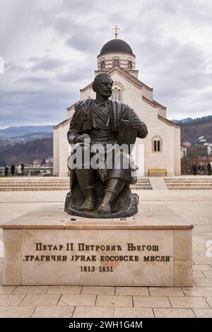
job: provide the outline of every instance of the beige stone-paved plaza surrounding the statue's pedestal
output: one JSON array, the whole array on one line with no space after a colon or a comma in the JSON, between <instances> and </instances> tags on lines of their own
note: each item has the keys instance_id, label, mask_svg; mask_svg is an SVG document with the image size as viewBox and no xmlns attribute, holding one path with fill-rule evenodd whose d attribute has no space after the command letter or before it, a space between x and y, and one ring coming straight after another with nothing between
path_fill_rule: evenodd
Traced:
<instances>
[{"instance_id":1,"label":"beige stone-paved plaza surrounding the statue's pedestal","mask_svg":"<svg viewBox=\"0 0 212 332\"><path fill-rule=\"evenodd\" d=\"M140 206L167 206L194 225L194 287L0 286L0 317L212 317L212 191L135 191ZM2 191L0 221L62 204L66 191ZM2 230L1 274L4 259ZM210 254L210 250L208 250ZM211 249L212 254L212 249ZM2 278L1 278L2 280Z\"/></svg>"}]
</instances>

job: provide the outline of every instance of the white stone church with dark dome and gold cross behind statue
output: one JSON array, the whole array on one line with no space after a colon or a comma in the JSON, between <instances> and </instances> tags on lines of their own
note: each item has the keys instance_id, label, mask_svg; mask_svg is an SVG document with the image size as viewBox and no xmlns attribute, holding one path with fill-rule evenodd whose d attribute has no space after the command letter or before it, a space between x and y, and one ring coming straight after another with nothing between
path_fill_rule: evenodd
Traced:
<instances>
[{"instance_id":1,"label":"white stone church with dark dome and gold cross behind statue","mask_svg":"<svg viewBox=\"0 0 212 332\"><path fill-rule=\"evenodd\" d=\"M128 104L148 127L148 136L137 138L134 146L138 176L160 171L167 176L180 175L180 127L167 119L166 107L153 100L153 88L139 80L136 56L131 47L118 39L116 33L116 37L102 47L97 59L95 76L107 72L114 81L112 99ZM88 97L95 99L92 83L80 90L80 100ZM69 174L67 131L73 112L74 105L67 108L66 119L54 126L54 175L59 177Z\"/></svg>"}]
</instances>

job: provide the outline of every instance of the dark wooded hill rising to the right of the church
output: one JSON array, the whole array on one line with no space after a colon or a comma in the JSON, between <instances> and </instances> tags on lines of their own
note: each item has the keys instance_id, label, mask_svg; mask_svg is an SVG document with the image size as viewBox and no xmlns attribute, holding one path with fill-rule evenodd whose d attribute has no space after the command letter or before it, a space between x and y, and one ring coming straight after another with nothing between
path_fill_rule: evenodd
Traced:
<instances>
[{"instance_id":1,"label":"dark wooded hill rising to the right of the church","mask_svg":"<svg viewBox=\"0 0 212 332\"><path fill-rule=\"evenodd\" d=\"M204 136L207 143L212 143L212 115L196 119L172 120L181 127L181 143L199 143L199 138Z\"/></svg>"}]
</instances>

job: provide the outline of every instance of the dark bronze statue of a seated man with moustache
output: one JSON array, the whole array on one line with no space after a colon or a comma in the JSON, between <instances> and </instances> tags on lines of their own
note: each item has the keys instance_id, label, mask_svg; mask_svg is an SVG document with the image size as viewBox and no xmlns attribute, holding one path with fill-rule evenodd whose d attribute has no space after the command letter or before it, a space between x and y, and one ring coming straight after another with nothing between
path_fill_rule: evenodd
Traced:
<instances>
[{"instance_id":1,"label":"dark bronze statue of a seated man with moustache","mask_svg":"<svg viewBox=\"0 0 212 332\"><path fill-rule=\"evenodd\" d=\"M75 105L68 131L72 147L68 160L71 191L65 204L65 211L71 215L119 218L138 211L136 197L129 188L136 183L131 149L136 137L145 138L148 131L133 109L124 102L110 100L112 84L107 73L100 73L93 81L96 99ZM77 163L79 159L81 163Z\"/></svg>"}]
</instances>

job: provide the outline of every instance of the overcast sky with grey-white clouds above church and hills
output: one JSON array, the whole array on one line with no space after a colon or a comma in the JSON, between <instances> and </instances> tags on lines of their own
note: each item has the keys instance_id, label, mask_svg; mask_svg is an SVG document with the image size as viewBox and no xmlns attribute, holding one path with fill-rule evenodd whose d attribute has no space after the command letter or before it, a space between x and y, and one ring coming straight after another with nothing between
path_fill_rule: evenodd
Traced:
<instances>
[{"instance_id":1,"label":"overcast sky with grey-white clouds above church and hills","mask_svg":"<svg viewBox=\"0 0 212 332\"><path fill-rule=\"evenodd\" d=\"M169 119L212 114L211 0L0 0L0 127L63 121L116 24Z\"/></svg>"}]
</instances>

